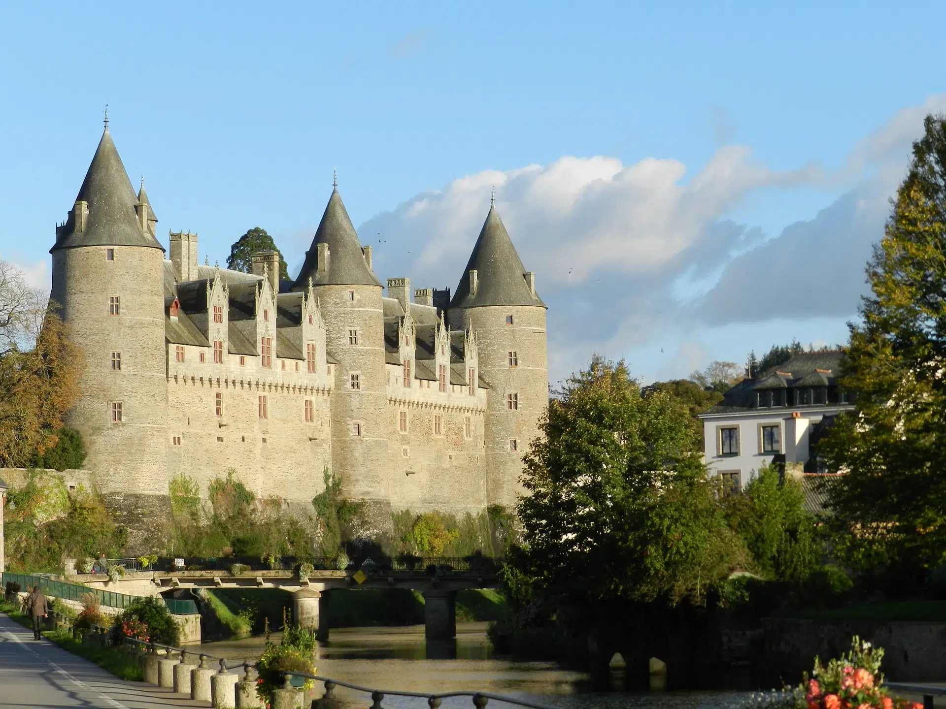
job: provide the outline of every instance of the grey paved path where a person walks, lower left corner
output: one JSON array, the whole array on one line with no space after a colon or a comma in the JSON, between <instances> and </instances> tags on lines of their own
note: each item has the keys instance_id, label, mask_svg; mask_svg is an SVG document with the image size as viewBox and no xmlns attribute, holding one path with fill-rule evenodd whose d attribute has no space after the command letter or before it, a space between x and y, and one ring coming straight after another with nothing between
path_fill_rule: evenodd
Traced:
<instances>
[{"instance_id":1,"label":"grey paved path where a person walks, lower left corner","mask_svg":"<svg viewBox=\"0 0 946 709\"><path fill-rule=\"evenodd\" d=\"M170 689L125 682L0 614L0 707L206 707Z\"/></svg>"}]
</instances>

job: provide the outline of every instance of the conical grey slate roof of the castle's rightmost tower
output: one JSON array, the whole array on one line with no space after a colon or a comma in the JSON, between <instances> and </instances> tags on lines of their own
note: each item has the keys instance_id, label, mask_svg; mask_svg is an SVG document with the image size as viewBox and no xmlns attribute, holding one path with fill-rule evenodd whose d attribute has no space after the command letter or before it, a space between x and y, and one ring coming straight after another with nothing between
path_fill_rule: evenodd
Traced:
<instances>
[{"instance_id":1,"label":"conical grey slate roof of the castle's rightmost tower","mask_svg":"<svg viewBox=\"0 0 946 709\"><path fill-rule=\"evenodd\" d=\"M476 293L470 292L472 269L477 271ZM499 218L496 205L489 208L486 221L483 222L480 236L466 263L464 275L453 294L450 307L471 308L481 305L537 305L545 303L533 295L525 279L526 269L522 266L516 247L513 246L509 233Z\"/></svg>"}]
</instances>

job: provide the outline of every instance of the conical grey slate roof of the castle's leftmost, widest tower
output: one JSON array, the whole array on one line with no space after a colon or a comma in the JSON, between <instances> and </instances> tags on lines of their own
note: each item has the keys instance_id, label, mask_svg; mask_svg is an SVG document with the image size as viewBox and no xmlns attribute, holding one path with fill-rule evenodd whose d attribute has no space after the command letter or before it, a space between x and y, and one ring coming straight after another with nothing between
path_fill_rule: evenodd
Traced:
<instances>
[{"instance_id":1,"label":"conical grey slate roof of the castle's leftmost, widest tower","mask_svg":"<svg viewBox=\"0 0 946 709\"><path fill-rule=\"evenodd\" d=\"M118 150L108 127L98 142L96 155L85 174L76 201L89 205L85 229L76 231L76 215L70 212L66 224L57 229L58 249L75 249L82 246L143 246L164 251L151 234L141 227L135 205L134 194L125 165L118 157Z\"/></svg>"}]
</instances>

